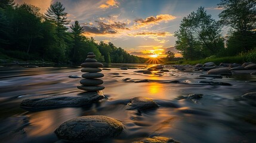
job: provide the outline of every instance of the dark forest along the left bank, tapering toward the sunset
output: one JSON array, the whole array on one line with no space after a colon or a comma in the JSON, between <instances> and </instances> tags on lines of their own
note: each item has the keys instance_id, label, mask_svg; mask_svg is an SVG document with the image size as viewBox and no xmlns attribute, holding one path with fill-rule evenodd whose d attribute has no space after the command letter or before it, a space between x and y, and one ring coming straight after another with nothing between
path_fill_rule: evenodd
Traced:
<instances>
[{"instance_id":1,"label":"dark forest along the left bank, tapering toward the sunset","mask_svg":"<svg viewBox=\"0 0 256 143\"><path fill-rule=\"evenodd\" d=\"M88 52L105 63L144 63L147 59L128 54L113 43L96 43L82 35L75 21L69 28L61 2L51 4L45 14L30 4L0 1L0 55L20 60L44 60L56 63L82 63Z\"/></svg>"}]
</instances>

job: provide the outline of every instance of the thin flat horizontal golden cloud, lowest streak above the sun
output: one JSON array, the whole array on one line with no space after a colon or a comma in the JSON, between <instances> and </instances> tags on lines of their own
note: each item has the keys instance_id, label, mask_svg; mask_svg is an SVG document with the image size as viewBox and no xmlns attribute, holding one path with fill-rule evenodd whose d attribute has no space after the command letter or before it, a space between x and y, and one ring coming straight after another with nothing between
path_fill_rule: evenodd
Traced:
<instances>
[{"instance_id":1,"label":"thin flat horizontal golden cloud, lowest streak above the sun","mask_svg":"<svg viewBox=\"0 0 256 143\"><path fill-rule=\"evenodd\" d=\"M169 32L138 32L138 33L130 33L128 34L129 36L141 36L141 37L146 37L149 36L149 38L155 39L155 38L165 38L166 36L172 36L171 33Z\"/></svg>"}]
</instances>

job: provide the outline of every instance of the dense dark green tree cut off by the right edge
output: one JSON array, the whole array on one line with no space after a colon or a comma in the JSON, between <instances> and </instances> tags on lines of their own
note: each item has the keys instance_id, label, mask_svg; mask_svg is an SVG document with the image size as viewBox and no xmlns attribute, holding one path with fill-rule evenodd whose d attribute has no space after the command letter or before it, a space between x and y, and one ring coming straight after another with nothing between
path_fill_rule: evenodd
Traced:
<instances>
[{"instance_id":1,"label":"dense dark green tree cut off by the right edge","mask_svg":"<svg viewBox=\"0 0 256 143\"><path fill-rule=\"evenodd\" d=\"M231 33L230 45L240 45L243 51L254 48L256 44L256 1L221 0L218 7L224 9L219 14L221 23L235 30L234 33Z\"/></svg>"}]
</instances>

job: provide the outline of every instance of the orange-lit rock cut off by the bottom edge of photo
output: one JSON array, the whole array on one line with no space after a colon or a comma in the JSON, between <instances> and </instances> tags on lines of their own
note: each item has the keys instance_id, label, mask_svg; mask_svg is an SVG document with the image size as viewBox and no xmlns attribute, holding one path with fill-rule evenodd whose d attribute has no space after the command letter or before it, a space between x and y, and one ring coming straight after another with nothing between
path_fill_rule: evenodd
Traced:
<instances>
[{"instance_id":1,"label":"orange-lit rock cut off by the bottom edge of photo","mask_svg":"<svg viewBox=\"0 0 256 143\"><path fill-rule=\"evenodd\" d=\"M166 138L166 137L162 137L162 136L154 136L152 138L144 138L141 139L140 141L136 141L133 143L164 143L164 142L168 142L168 143L179 143L177 141L174 141L174 139L172 138Z\"/></svg>"}]
</instances>

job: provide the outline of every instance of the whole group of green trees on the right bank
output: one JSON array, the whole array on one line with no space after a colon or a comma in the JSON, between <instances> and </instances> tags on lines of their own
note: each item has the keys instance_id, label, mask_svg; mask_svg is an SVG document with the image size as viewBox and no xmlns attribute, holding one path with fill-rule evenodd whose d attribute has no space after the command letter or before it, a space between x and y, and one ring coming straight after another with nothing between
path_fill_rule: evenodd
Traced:
<instances>
[{"instance_id":1,"label":"whole group of green trees on the right bank","mask_svg":"<svg viewBox=\"0 0 256 143\"><path fill-rule=\"evenodd\" d=\"M256 1L221 0L214 20L203 7L184 17L175 32L176 48L187 60L226 57L256 48ZM224 29L229 29L226 36Z\"/></svg>"}]
</instances>

